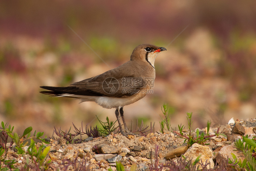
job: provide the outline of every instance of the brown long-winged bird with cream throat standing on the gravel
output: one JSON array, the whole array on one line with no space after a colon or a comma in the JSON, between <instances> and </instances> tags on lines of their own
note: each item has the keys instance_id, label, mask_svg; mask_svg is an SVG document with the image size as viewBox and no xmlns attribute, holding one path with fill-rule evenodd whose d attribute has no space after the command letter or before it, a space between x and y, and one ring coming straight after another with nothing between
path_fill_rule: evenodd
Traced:
<instances>
[{"instance_id":1,"label":"brown long-winged bird with cream throat standing on the gravel","mask_svg":"<svg viewBox=\"0 0 256 171\"><path fill-rule=\"evenodd\" d=\"M121 134L126 137L134 135L126 125L123 107L137 102L147 93L152 92L155 80L155 58L165 50L164 47L152 44L138 45L133 50L130 60L114 69L66 87L40 86L48 90L40 93L54 97L77 98L81 102L96 102L107 109L115 108Z\"/></svg>"}]
</instances>

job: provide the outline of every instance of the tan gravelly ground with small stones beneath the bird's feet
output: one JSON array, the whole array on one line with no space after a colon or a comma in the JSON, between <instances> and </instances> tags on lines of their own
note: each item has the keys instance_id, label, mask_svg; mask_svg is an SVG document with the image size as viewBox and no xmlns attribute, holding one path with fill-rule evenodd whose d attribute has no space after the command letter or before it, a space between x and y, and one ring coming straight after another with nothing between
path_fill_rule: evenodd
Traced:
<instances>
[{"instance_id":1,"label":"tan gravelly ground with small stones beneath the bird's feet","mask_svg":"<svg viewBox=\"0 0 256 171\"><path fill-rule=\"evenodd\" d=\"M211 137L205 142L209 144L207 146L217 153L222 147L230 145L238 138L242 138L241 134L234 132L235 125L242 126L241 129L245 130L245 135L255 136L256 118L236 120L235 124L220 126L220 133L229 136ZM199 132L205 132L205 129L199 129ZM186 129L184 129L185 131ZM217 127L210 128L210 134L215 131L217 131ZM129 136L129 138L121 134L111 134L107 137L89 138L88 142L81 144L66 144L65 140L55 140L55 138L48 140L50 143L47 146L51 146L51 150L46 158L52 160L50 166L53 170L75 170L74 163L82 162L83 158L87 161L84 165L91 170L108 170L110 167L115 170L116 160L119 160L127 170L133 163L137 164L137 170L149 170L150 155L152 154L154 162L156 145L160 150L158 154L159 162L166 163L166 154L184 142L184 139L173 132L163 134L156 132L149 133L146 137ZM37 147L40 145L40 143L36 144ZM28 156L17 155L15 148L11 148L7 151L6 157L6 159L15 159L17 162L15 166L22 168Z\"/></svg>"}]
</instances>

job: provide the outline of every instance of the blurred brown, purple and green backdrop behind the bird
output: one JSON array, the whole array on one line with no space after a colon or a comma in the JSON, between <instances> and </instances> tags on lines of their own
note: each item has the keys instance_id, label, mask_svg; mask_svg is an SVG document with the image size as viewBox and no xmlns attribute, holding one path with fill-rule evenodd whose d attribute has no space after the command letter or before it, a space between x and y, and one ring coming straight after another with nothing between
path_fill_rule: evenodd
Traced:
<instances>
[{"instance_id":1,"label":"blurred brown, purple and green backdrop behind the bird","mask_svg":"<svg viewBox=\"0 0 256 171\"><path fill-rule=\"evenodd\" d=\"M142 43L167 51L155 61L154 93L124 107L129 126L138 119L159 130L164 103L173 128L187 127L186 112L193 112L194 128L255 117L255 7L256 1L1 1L0 121L19 134L32 126L47 136L72 122L99 125L95 115L115 121L115 109L48 97L39 86L101 74Z\"/></svg>"}]
</instances>

